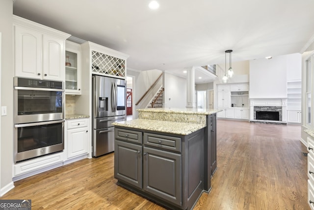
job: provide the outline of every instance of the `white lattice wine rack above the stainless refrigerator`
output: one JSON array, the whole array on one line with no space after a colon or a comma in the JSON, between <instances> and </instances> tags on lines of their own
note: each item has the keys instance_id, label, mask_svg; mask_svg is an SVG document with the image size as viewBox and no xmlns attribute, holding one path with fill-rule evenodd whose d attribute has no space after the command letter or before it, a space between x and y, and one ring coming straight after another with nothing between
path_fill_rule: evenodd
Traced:
<instances>
[{"instance_id":1,"label":"white lattice wine rack above the stainless refrigerator","mask_svg":"<svg viewBox=\"0 0 314 210\"><path fill-rule=\"evenodd\" d=\"M125 63L123 59L92 51L92 72L124 77Z\"/></svg>"}]
</instances>

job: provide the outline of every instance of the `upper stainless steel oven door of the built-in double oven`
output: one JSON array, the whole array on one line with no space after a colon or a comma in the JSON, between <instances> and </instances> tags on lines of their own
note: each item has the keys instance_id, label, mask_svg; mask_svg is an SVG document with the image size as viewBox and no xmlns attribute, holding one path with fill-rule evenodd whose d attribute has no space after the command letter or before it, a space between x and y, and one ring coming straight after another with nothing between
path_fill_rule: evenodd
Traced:
<instances>
[{"instance_id":1,"label":"upper stainless steel oven door of the built-in double oven","mask_svg":"<svg viewBox=\"0 0 314 210\"><path fill-rule=\"evenodd\" d=\"M14 123L64 119L64 90L14 87Z\"/></svg>"}]
</instances>

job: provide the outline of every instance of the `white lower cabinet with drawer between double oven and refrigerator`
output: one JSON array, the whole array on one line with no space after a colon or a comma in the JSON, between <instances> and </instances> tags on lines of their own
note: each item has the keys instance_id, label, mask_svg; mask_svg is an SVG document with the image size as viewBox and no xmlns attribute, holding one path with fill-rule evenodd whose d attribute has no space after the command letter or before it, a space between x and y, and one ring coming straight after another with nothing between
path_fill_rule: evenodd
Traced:
<instances>
[{"instance_id":1,"label":"white lower cabinet with drawer between double oven and refrigerator","mask_svg":"<svg viewBox=\"0 0 314 210\"><path fill-rule=\"evenodd\" d=\"M66 159L87 155L89 148L89 119L66 120L66 128Z\"/></svg>"}]
</instances>

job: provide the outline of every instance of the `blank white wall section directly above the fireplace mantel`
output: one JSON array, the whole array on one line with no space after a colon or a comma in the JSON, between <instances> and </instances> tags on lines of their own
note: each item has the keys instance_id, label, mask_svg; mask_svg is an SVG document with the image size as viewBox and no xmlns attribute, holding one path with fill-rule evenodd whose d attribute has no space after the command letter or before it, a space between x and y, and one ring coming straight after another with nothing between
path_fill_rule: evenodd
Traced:
<instances>
[{"instance_id":1,"label":"blank white wall section directly above the fireplace mantel","mask_svg":"<svg viewBox=\"0 0 314 210\"><path fill-rule=\"evenodd\" d=\"M287 56L250 60L250 98L287 97Z\"/></svg>"}]
</instances>

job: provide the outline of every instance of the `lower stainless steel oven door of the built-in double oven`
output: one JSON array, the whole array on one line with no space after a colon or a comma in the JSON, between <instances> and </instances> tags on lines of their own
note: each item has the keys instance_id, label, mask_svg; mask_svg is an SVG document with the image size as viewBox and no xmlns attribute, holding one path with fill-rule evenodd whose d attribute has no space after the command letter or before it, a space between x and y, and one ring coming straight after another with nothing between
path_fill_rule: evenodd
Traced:
<instances>
[{"instance_id":1,"label":"lower stainless steel oven door of the built-in double oven","mask_svg":"<svg viewBox=\"0 0 314 210\"><path fill-rule=\"evenodd\" d=\"M15 124L14 162L64 150L64 121Z\"/></svg>"}]
</instances>

